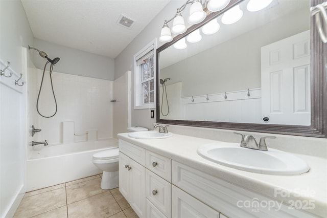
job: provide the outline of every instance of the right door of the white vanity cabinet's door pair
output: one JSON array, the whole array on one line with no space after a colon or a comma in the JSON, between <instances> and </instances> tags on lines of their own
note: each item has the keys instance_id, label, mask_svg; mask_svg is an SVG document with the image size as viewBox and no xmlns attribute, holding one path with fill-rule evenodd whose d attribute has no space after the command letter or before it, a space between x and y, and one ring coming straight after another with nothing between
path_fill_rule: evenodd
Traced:
<instances>
[{"instance_id":1,"label":"right door of the white vanity cabinet's door pair","mask_svg":"<svg viewBox=\"0 0 327 218\"><path fill-rule=\"evenodd\" d=\"M145 167L130 159L130 205L139 217L146 216Z\"/></svg>"}]
</instances>

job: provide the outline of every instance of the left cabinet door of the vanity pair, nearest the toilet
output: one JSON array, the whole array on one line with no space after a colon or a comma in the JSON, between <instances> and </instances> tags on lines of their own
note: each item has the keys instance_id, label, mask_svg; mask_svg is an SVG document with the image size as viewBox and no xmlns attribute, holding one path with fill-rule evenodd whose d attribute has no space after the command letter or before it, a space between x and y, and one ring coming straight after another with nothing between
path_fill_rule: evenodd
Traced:
<instances>
[{"instance_id":1,"label":"left cabinet door of the vanity pair, nearest the toilet","mask_svg":"<svg viewBox=\"0 0 327 218\"><path fill-rule=\"evenodd\" d=\"M130 171L125 166L130 165L130 159L119 152L119 191L123 194L125 199L130 199Z\"/></svg>"}]
</instances>

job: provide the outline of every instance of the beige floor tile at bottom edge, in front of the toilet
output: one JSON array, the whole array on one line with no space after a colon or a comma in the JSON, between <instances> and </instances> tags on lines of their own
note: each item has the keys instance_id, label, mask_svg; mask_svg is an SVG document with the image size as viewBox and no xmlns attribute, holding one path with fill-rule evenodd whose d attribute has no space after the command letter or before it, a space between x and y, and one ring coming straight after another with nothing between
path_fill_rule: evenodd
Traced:
<instances>
[{"instance_id":1,"label":"beige floor tile at bottom edge, in front of the toilet","mask_svg":"<svg viewBox=\"0 0 327 218\"><path fill-rule=\"evenodd\" d=\"M109 217L121 210L109 191L68 204L68 217Z\"/></svg>"}]
</instances>

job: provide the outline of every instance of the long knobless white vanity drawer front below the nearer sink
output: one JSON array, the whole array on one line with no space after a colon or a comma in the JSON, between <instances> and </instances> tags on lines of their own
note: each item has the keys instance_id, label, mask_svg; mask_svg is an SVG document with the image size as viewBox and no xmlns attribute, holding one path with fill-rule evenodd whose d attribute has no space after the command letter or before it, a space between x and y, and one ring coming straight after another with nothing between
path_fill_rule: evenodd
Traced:
<instances>
[{"instance_id":1,"label":"long knobless white vanity drawer front below the nearer sink","mask_svg":"<svg viewBox=\"0 0 327 218\"><path fill-rule=\"evenodd\" d=\"M176 161L172 161L172 183L173 187L176 185L229 217L313 217L303 210L290 209L281 204L282 202L277 204L275 199L269 199ZM173 189L173 197L174 192ZM254 204L254 208L246 206L246 202ZM271 207L258 207L261 202L275 204Z\"/></svg>"}]
</instances>

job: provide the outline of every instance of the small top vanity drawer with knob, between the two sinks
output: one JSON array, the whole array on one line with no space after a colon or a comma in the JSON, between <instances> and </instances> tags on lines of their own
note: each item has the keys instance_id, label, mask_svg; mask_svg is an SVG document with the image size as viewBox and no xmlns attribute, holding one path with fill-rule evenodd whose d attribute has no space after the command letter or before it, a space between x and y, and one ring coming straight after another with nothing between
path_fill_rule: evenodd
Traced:
<instances>
[{"instance_id":1,"label":"small top vanity drawer with knob, between the two sinks","mask_svg":"<svg viewBox=\"0 0 327 218\"><path fill-rule=\"evenodd\" d=\"M155 154L149 150L147 150L146 154L147 168L168 182L171 182L172 160L170 158Z\"/></svg>"}]
</instances>

